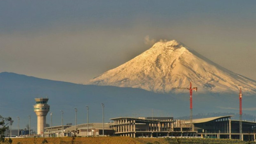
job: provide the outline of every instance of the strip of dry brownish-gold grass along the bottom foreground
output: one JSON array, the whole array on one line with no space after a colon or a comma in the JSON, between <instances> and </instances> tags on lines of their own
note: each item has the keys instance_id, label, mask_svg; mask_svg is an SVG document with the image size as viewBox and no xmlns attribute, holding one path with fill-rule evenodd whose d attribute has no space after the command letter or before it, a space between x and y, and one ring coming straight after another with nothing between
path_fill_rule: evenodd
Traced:
<instances>
[{"instance_id":1,"label":"strip of dry brownish-gold grass along the bottom foreground","mask_svg":"<svg viewBox=\"0 0 256 144\"><path fill-rule=\"evenodd\" d=\"M71 141L71 137L14 138L12 144L72 144ZM248 144L248 142L234 139L76 137L74 144Z\"/></svg>"}]
</instances>

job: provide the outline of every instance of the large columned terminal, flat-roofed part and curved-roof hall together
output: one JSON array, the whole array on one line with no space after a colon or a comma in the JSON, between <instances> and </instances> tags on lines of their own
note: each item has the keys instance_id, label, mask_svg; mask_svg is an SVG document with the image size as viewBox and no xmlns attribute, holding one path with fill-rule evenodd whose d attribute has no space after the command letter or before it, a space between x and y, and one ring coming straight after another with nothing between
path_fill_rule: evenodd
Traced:
<instances>
[{"instance_id":1,"label":"large columned terminal, flat-roofed part and curved-roof hall together","mask_svg":"<svg viewBox=\"0 0 256 144\"><path fill-rule=\"evenodd\" d=\"M111 118L114 135L128 137L211 137L239 139L239 121L232 116L218 116L190 120L173 118L119 117ZM256 122L242 121L242 140L256 141Z\"/></svg>"}]
</instances>

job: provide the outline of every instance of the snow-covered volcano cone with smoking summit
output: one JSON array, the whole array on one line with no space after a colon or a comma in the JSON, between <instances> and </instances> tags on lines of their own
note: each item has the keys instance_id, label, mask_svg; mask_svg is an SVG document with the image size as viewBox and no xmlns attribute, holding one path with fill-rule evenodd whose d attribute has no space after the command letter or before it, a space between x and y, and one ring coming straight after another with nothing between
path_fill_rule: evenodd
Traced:
<instances>
[{"instance_id":1,"label":"snow-covered volcano cone with smoking summit","mask_svg":"<svg viewBox=\"0 0 256 144\"><path fill-rule=\"evenodd\" d=\"M243 92L256 93L256 81L220 67L176 40L157 42L132 60L91 79L89 84L169 93L182 92L173 88L188 87L190 81L198 92L238 93L242 88Z\"/></svg>"}]
</instances>

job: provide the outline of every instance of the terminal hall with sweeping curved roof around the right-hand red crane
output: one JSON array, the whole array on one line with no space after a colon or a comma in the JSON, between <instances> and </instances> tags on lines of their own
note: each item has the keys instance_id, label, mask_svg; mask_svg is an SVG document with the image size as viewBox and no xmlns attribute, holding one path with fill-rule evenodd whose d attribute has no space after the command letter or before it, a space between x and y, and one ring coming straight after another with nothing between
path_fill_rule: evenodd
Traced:
<instances>
[{"instance_id":1,"label":"terminal hall with sweeping curved roof around the right-hand red crane","mask_svg":"<svg viewBox=\"0 0 256 144\"><path fill-rule=\"evenodd\" d=\"M211 138L239 139L239 121L231 120L232 116L217 116L194 119L194 129L198 136ZM187 121L188 123L188 121ZM242 121L242 140L256 140L256 122Z\"/></svg>"}]
</instances>

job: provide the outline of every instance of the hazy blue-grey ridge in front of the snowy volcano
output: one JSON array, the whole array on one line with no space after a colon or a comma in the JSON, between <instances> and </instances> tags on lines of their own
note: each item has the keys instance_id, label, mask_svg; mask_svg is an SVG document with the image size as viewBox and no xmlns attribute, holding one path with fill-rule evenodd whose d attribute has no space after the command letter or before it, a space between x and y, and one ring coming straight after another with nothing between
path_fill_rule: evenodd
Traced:
<instances>
[{"instance_id":1,"label":"hazy blue-grey ridge in front of the snowy volcano","mask_svg":"<svg viewBox=\"0 0 256 144\"><path fill-rule=\"evenodd\" d=\"M78 109L77 123L86 123L86 108L89 109L89 122L102 122L101 103L105 104L105 121L109 118L129 116L188 116L189 92L181 94L159 94L140 88L120 88L115 86L94 86L52 81L10 72L0 73L0 115L14 119L13 128L17 128L17 116L20 128L28 124L31 115L31 128L36 130L36 114L33 112L34 98L48 97L50 111L53 113L53 125L61 125L61 112L64 111L64 124L75 123L75 111ZM209 112L232 112L239 109L237 95L199 94L193 95L193 114ZM244 94L244 113L255 114L255 96ZM50 114L47 115L50 123Z\"/></svg>"}]
</instances>

